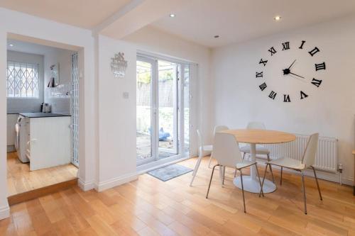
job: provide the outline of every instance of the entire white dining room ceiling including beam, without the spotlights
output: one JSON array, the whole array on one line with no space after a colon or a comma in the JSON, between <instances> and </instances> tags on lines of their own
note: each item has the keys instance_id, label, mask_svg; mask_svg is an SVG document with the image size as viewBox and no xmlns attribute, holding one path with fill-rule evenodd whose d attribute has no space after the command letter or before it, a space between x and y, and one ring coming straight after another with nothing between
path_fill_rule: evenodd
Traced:
<instances>
[{"instance_id":1,"label":"entire white dining room ceiling including beam, without the spotlights","mask_svg":"<svg viewBox=\"0 0 355 236\"><path fill-rule=\"evenodd\" d=\"M180 38L219 47L355 13L355 0L0 0L0 7L114 38L151 23ZM168 16L171 9L175 18ZM281 21L273 20L276 15Z\"/></svg>"}]
</instances>

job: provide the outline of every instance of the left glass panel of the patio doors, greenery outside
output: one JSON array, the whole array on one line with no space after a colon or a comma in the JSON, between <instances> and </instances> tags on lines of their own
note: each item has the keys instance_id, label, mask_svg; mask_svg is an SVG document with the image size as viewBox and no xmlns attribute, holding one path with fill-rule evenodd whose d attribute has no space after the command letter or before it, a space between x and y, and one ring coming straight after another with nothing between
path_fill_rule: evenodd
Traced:
<instances>
[{"instance_id":1,"label":"left glass panel of the patio doors, greenery outside","mask_svg":"<svg viewBox=\"0 0 355 236\"><path fill-rule=\"evenodd\" d=\"M136 72L136 152L137 163L153 160L153 63L149 60L137 61Z\"/></svg>"}]
</instances>

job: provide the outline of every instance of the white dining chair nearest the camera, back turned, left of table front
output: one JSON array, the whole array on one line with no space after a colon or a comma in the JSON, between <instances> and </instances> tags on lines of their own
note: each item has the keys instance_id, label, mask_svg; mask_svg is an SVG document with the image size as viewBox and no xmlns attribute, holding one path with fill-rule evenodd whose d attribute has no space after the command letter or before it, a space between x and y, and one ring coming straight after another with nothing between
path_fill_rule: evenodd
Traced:
<instances>
[{"instance_id":1,"label":"white dining chair nearest the camera, back turned, left of table front","mask_svg":"<svg viewBox=\"0 0 355 236\"><path fill-rule=\"evenodd\" d=\"M239 143L234 137L234 135L227 133L216 133L214 135L214 143L213 143L213 157L217 160L217 164L214 165L212 169L211 179L209 179L209 185L207 189L206 198L208 198L209 189L211 187L212 178L214 174L214 168L223 167L223 181L225 176L226 167L236 168L239 170L241 174L241 191L243 193L243 205L244 205L244 213L246 213L245 207L245 197L244 197L244 186L243 186L243 173L242 169L246 167L251 167L253 164L256 166L256 172L258 174L259 183L261 186L261 179L258 172L258 167L256 162L251 162L246 159L241 158L241 152L239 150ZM261 194L263 195L263 189L261 189Z\"/></svg>"}]
</instances>

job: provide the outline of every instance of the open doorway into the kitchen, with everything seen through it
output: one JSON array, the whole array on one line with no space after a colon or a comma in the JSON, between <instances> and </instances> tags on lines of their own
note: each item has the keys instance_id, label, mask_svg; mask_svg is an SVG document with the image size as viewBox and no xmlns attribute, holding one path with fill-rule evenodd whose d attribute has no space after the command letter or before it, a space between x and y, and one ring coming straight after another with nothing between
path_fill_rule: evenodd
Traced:
<instances>
[{"instance_id":1,"label":"open doorway into the kitchen, with everything seen through it","mask_svg":"<svg viewBox=\"0 0 355 236\"><path fill-rule=\"evenodd\" d=\"M78 52L31 40L7 42L9 203L65 183L76 185Z\"/></svg>"}]
</instances>

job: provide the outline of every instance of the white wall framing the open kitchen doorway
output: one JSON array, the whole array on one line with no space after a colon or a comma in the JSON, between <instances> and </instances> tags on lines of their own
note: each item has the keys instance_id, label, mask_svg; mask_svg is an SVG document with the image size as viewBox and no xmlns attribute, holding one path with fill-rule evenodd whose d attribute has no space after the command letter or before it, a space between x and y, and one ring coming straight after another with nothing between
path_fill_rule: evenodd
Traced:
<instances>
[{"instance_id":1,"label":"white wall framing the open kitchen doorway","mask_svg":"<svg viewBox=\"0 0 355 236\"><path fill-rule=\"evenodd\" d=\"M25 13L0 8L0 74L6 77L7 33L25 35L51 46L75 46L80 50L80 186L94 187L97 135L94 111L94 38L89 30L44 20ZM21 37L20 37L21 38ZM9 215L6 189L6 79L0 83L0 218Z\"/></svg>"}]
</instances>

